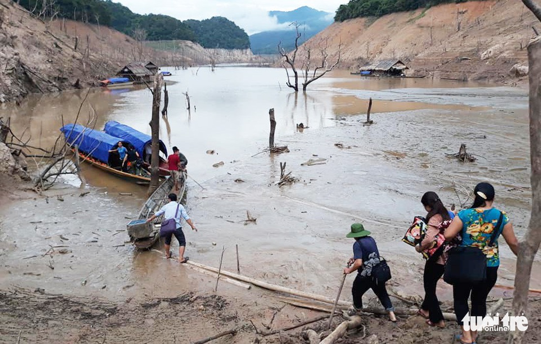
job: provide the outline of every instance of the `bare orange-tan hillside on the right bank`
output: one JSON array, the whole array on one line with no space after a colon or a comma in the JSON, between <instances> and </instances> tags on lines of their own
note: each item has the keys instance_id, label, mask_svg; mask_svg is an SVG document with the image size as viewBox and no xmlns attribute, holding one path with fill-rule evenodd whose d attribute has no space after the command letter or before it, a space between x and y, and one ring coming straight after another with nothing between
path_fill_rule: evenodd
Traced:
<instances>
[{"instance_id":1,"label":"bare orange-tan hillside on the right bank","mask_svg":"<svg viewBox=\"0 0 541 344\"><path fill-rule=\"evenodd\" d=\"M327 46L335 58L341 42L341 67L352 70L400 59L410 74L502 81L513 64L527 64L533 24L538 21L522 2L473 1L333 23L306 46Z\"/></svg>"}]
</instances>

